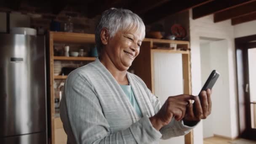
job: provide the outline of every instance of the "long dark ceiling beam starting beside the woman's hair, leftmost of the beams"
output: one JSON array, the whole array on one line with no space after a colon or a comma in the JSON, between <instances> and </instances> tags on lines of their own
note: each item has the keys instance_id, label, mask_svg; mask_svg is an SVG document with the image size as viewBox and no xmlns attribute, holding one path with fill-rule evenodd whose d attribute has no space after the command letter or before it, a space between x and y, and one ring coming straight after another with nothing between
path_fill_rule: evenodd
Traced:
<instances>
[{"instance_id":1,"label":"long dark ceiling beam starting beside the woman's hair, leftmost of the beams","mask_svg":"<svg viewBox=\"0 0 256 144\"><path fill-rule=\"evenodd\" d=\"M145 13L144 22L146 24L151 24L155 21L163 19L168 15L179 13L182 11L187 11L190 8L194 8L196 6L200 6L211 1L213 0L178 0L175 2L171 0Z\"/></svg>"}]
</instances>

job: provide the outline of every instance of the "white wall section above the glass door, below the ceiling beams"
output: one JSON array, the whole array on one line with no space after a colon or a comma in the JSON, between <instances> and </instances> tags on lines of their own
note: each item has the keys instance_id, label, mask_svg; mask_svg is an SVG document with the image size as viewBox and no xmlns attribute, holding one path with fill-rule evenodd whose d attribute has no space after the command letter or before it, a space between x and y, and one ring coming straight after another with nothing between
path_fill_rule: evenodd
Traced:
<instances>
[{"instance_id":1,"label":"white wall section above the glass door, below the ceiling beams","mask_svg":"<svg viewBox=\"0 0 256 144\"><path fill-rule=\"evenodd\" d=\"M235 25L234 34L235 37L256 35L256 20Z\"/></svg>"}]
</instances>

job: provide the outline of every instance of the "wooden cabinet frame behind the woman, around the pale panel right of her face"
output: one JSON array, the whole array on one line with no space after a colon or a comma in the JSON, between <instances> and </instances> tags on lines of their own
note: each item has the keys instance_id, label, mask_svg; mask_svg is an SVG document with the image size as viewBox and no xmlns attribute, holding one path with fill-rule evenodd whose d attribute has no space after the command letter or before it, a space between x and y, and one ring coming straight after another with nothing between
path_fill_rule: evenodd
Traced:
<instances>
[{"instance_id":1,"label":"wooden cabinet frame behind the woman, around the pale panel right of her face","mask_svg":"<svg viewBox=\"0 0 256 144\"><path fill-rule=\"evenodd\" d=\"M185 51L171 50L168 48L155 49L155 45L170 45L177 44L177 48L184 49ZM140 54L133 61L132 67L135 75L138 75L147 85L147 87L155 93L155 80L154 80L154 54L155 53L180 53L182 55L182 69L184 79L184 93L191 94L191 74L190 74L190 45L188 41L179 40L160 40L145 38L140 48ZM191 144L193 141L193 131L185 136L185 143Z\"/></svg>"}]
</instances>

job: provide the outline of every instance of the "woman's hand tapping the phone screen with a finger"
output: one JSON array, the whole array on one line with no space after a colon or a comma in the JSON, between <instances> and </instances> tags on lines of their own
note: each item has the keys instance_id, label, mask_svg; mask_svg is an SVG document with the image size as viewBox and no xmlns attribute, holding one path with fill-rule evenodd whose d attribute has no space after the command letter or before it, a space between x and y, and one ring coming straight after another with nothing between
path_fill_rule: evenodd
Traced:
<instances>
[{"instance_id":1,"label":"woman's hand tapping the phone screen with a finger","mask_svg":"<svg viewBox=\"0 0 256 144\"><path fill-rule=\"evenodd\" d=\"M149 117L153 127L160 130L164 125L171 122L174 117L177 121L182 120L186 114L186 108L189 104L188 100L194 100L192 95L169 96L161 109L153 117Z\"/></svg>"}]
</instances>

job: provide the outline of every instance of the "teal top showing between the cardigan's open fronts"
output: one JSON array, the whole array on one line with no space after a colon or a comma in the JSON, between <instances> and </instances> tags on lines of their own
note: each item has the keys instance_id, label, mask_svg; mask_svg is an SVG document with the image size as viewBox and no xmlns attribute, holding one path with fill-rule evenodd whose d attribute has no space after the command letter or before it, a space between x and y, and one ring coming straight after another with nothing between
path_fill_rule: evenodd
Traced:
<instances>
[{"instance_id":1,"label":"teal top showing between the cardigan's open fronts","mask_svg":"<svg viewBox=\"0 0 256 144\"><path fill-rule=\"evenodd\" d=\"M133 108L135 109L137 114L139 115L139 117L142 117L141 109L139 108L139 104L134 96L133 89L131 88L131 85L120 85L120 86L123 89L123 92L125 93L127 98L129 99L131 105L133 106Z\"/></svg>"}]
</instances>

